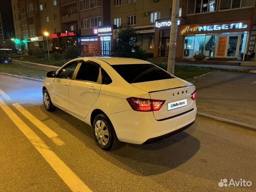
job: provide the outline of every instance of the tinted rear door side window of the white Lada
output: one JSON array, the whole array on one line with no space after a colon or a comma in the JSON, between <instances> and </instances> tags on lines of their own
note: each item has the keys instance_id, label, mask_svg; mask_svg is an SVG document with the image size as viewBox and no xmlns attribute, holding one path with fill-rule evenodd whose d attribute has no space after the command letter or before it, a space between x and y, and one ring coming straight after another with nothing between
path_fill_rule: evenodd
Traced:
<instances>
[{"instance_id":1,"label":"tinted rear door side window of the white Lada","mask_svg":"<svg viewBox=\"0 0 256 192\"><path fill-rule=\"evenodd\" d=\"M97 82L100 73L100 66L93 62L82 62L78 74L77 80Z\"/></svg>"}]
</instances>

